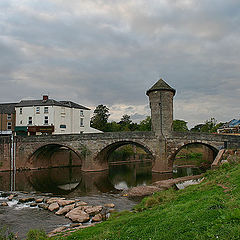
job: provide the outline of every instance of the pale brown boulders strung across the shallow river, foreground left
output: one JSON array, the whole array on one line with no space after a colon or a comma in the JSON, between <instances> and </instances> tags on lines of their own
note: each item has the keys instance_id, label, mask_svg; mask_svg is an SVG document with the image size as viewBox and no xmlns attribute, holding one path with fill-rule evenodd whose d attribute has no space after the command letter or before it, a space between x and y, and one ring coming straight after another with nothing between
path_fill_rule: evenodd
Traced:
<instances>
[{"instance_id":1,"label":"pale brown boulders strung across the shallow river, foreground left","mask_svg":"<svg viewBox=\"0 0 240 240\"><path fill-rule=\"evenodd\" d=\"M24 197L23 197L24 194ZM25 195L26 194L26 195ZM13 201L13 204L25 204L29 207L39 208L39 210L46 210L58 216L68 218L72 223L70 226L59 226L48 234L49 237L61 234L67 236L71 232L80 228L86 228L95 225L98 222L107 220L109 214L115 211L113 203L106 203L104 206L92 206L80 199L65 199L60 197L33 197L29 193L21 192L14 193L1 193L1 197L6 197L6 201L0 203L0 206L8 207L13 206L8 204L8 201ZM84 223L87 223L83 225Z\"/></svg>"}]
</instances>

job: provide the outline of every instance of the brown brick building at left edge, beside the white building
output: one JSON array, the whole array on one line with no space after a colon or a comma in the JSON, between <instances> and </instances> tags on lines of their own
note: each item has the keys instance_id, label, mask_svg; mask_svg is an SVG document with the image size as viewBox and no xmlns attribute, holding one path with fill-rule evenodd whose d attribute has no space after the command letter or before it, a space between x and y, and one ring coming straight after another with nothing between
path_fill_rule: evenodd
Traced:
<instances>
[{"instance_id":1,"label":"brown brick building at left edge, beside the white building","mask_svg":"<svg viewBox=\"0 0 240 240\"><path fill-rule=\"evenodd\" d=\"M16 103L0 104L0 135L12 134L15 128Z\"/></svg>"}]
</instances>

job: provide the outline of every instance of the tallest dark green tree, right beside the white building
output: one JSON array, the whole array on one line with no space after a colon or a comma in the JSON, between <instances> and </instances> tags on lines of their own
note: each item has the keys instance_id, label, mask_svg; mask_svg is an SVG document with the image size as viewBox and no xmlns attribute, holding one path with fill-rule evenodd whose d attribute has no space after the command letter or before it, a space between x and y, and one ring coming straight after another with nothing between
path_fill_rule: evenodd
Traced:
<instances>
[{"instance_id":1,"label":"tallest dark green tree, right beside the white building","mask_svg":"<svg viewBox=\"0 0 240 240\"><path fill-rule=\"evenodd\" d=\"M101 131L107 130L107 121L110 116L108 107L100 104L98 105L91 118L91 127L96 128Z\"/></svg>"}]
</instances>

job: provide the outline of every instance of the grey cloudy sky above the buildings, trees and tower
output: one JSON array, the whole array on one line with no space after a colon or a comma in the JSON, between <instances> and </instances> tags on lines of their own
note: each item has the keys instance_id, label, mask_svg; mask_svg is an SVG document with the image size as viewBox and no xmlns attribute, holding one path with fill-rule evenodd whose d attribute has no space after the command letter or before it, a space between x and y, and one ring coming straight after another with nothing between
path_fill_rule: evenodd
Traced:
<instances>
[{"instance_id":1,"label":"grey cloudy sky above the buildings, trees and tower","mask_svg":"<svg viewBox=\"0 0 240 240\"><path fill-rule=\"evenodd\" d=\"M149 115L160 77L175 119L240 118L239 0L1 0L0 102L72 100Z\"/></svg>"}]
</instances>

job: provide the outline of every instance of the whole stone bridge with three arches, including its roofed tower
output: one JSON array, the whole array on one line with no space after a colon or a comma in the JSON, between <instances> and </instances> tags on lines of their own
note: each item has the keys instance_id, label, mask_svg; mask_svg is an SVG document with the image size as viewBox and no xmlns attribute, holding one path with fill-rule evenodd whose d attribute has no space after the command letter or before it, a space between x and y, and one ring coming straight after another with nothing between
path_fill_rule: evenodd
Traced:
<instances>
[{"instance_id":1,"label":"whole stone bridge with three arches, including its roofed tower","mask_svg":"<svg viewBox=\"0 0 240 240\"><path fill-rule=\"evenodd\" d=\"M16 136L13 142L11 137L0 137L0 170L13 168L11 158L16 169L44 168L47 166L45 158L54 148L67 148L78 156L82 171L102 171L108 169L108 157L114 150L134 144L151 156L153 172L172 172L176 154L189 144L204 145L213 156L222 148L240 147L239 136L173 132L175 90L162 79L147 91L147 95L151 108L151 132Z\"/></svg>"}]
</instances>

